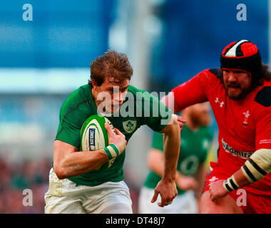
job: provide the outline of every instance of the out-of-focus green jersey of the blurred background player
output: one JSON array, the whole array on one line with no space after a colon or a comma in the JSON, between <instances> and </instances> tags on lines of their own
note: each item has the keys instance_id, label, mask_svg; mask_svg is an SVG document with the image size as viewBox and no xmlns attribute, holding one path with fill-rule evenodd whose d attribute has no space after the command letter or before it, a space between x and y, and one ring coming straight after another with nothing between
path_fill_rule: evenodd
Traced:
<instances>
[{"instance_id":1,"label":"out-of-focus green jersey of the blurred background player","mask_svg":"<svg viewBox=\"0 0 271 228\"><path fill-rule=\"evenodd\" d=\"M177 170L185 176L194 176L199 165L205 162L208 150L213 139L213 134L209 127L201 127L197 132L193 132L186 125L181 131L180 155ZM163 134L154 133L152 147L163 151ZM150 171L145 180L144 186L155 189L161 177ZM184 193L177 187L178 195Z\"/></svg>"}]
</instances>

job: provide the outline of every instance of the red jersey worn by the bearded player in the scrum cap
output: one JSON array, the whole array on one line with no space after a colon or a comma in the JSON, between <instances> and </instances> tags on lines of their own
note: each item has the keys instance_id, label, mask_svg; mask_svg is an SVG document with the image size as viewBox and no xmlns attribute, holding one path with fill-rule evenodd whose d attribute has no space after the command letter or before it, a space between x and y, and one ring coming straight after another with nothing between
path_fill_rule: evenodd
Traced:
<instances>
[{"instance_id":1,"label":"red jersey worn by the bearded player in the scrum cap","mask_svg":"<svg viewBox=\"0 0 271 228\"><path fill-rule=\"evenodd\" d=\"M181 109L210 102L219 131L218 166L227 178L255 150L271 149L271 81L265 81L243 99L232 100L219 73L219 68L202 71L172 91ZM271 173L250 187L256 194L271 195Z\"/></svg>"}]
</instances>

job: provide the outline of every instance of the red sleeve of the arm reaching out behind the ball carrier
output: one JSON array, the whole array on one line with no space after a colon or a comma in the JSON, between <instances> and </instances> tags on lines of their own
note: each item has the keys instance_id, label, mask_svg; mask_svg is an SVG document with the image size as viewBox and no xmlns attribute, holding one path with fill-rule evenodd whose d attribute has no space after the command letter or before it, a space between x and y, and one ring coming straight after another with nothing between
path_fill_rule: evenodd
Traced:
<instances>
[{"instance_id":1,"label":"red sleeve of the arm reaching out behind the ball carrier","mask_svg":"<svg viewBox=\"0 0 271 228\"><path fill-rule=\"evenodd\" d=\"M213 76L210 71L205 70L198 73L189 81L173 88L171 91L174 93L174 98L178 104L178 108L183 110L195 103L208 101L206 90L208 88L208 84L210 85L210 81L213 80L213 77L215 76Z\"/></svg>"}]
</instances>

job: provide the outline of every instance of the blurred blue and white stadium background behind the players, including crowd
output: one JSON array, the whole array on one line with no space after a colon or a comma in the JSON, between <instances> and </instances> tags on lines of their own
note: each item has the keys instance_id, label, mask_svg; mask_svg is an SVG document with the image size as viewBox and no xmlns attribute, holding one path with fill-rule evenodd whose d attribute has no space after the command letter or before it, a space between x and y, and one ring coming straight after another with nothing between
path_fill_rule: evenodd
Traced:
<instances>
[{"instance_id":1,"label":"blurred blue and white stadium background behind the players, including crowd","mask_svg":"<svg viewBox=\"0 0 271 228\"><path fill-rule=\"evenodd\" d=\"M24 20L29 9L24 4L32 6L31 21ZM269 63L269 1L243 0L245 21L237 18L238 4L1 1L0 213L43 213L59 109L69 93L87 83L91 61L108 49L128 55L134 68L131 84L150 92L168 93L203 69L219 67L223 48L240 39L254 41ZM140 128L127 147L125 178L134 212L148 172L151 136L148 128ZM21 207L26 188L34 191L33 207Z\"/></svg>"}]
</instances>

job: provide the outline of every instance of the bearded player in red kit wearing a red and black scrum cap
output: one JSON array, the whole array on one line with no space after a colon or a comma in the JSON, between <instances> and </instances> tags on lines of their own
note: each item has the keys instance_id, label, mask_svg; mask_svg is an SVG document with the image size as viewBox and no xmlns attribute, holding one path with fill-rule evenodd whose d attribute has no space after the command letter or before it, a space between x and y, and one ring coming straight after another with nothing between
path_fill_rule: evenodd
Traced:
<instances>
[{"instance_id":1,"label":"bearded player in red kit wearing a red and black scrum cap","mask_svg":"<svg viewBox=\"0 0 271 228\"><path fill-rule=\"evenodd\" d=\"M271 73L247 40L227 45L220 63L163 99L175 112L206 100L213 108L218 162L210 163L200 211L271 213Z\"/></svg>"}]
</instances>

